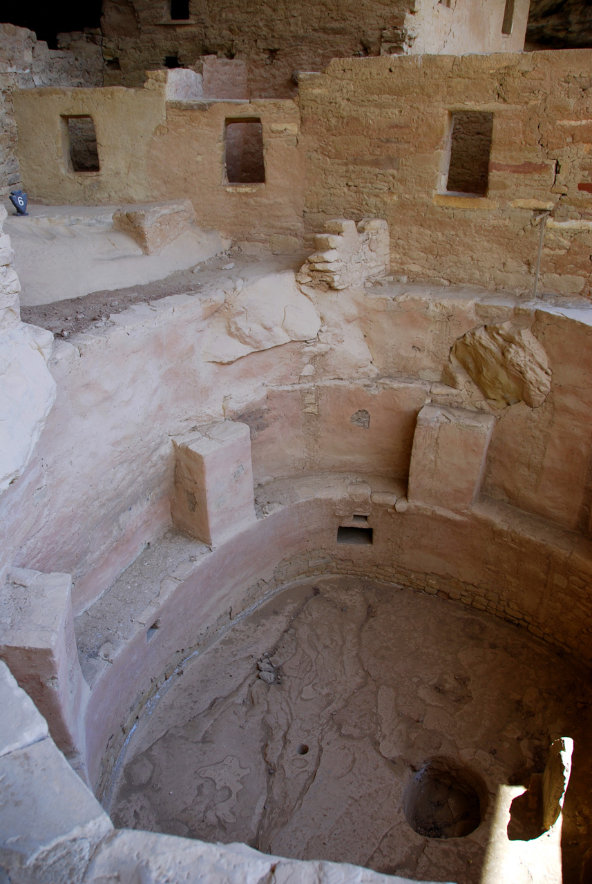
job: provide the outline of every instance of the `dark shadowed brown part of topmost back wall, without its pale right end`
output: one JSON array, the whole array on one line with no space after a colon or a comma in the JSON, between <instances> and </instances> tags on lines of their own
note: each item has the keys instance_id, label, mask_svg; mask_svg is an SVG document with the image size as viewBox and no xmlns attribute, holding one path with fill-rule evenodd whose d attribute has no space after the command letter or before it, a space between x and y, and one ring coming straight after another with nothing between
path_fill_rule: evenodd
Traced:
<instances>
[{"instance_id":1,"label":"dark shadowed brown part of topmost back wall, without its pale right end","mask_svg":"<svg viewBox=\"0 0 592 884\"><path fill-rule=\"evenodd\" d=\"M319 71L333 57L379 55L388 34L402 51L410 0L385 4L343 2L338 10L319 3L243 4L239 0L193 0L190 18L176 24L171 4L154 0L105 0L102 32L109 85L140 86L145 71L167 56L183 66L203 55L247 62L249 94L290 96L295 71ZM117 59L117 60L116 60Z\"/></svg>"}]
</instances>

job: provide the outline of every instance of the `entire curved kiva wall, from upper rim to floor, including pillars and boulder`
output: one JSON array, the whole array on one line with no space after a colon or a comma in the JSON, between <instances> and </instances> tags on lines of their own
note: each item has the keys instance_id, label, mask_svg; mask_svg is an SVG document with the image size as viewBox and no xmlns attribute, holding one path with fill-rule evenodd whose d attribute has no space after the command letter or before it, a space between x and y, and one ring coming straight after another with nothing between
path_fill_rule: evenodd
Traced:
<instances>
[{"instance_id":1,"label":"entire curved kiva wall, from upper rim to floor, including pillars and boulder","mask_svg":"<svg viewBox=\"0 0 592 884\"><path fill-rule=\"evenodd\" d=\"M588 310L304 294L226 260L54 342L56 402L0 498L4 570L72 575L62 659L29 682L99 790L176 662L303 576L440 593L592 656ZM43 583L17 578L15 604Z\"/></svg>"}]
</instances>

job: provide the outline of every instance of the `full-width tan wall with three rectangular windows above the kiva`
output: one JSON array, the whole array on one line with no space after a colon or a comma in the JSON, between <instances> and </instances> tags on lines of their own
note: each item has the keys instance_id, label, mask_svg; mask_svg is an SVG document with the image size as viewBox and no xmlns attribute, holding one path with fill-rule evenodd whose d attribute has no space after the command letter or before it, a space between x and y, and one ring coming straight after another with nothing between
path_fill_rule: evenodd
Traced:
<instances>
[{"instance_id":1,"label":"full-width tan wall with three rectangular windows above the kiva","mask_svg":"<svg viewBox=\"0 0 592 884\"><path fill-rule=\"evenodd\" d=\"M379 217L396 276L526 293L549 212L539 291L588 294L591 65L592 50L342 59L302 75L297 103L168 101L165 72L143 89L23 91L23 180L44 202L188 197L198 225L239 240L312 245L330 218ZM467 112L477 123L453 134ZM65 121L80 115L94 120L100 171L69 164ZM241 120L261 124L264 181L229 180L228 125ZM472 171L481 129L479 192L467 193L448 180L452 147L452 165Z\"/></svg>"}]
</instances>

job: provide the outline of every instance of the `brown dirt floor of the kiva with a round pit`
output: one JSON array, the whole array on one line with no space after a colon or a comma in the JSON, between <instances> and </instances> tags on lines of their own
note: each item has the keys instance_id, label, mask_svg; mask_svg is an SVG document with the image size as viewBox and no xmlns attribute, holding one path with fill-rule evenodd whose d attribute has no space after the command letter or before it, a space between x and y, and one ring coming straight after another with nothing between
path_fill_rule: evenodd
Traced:
<instances>
[{"instance_id":1,"label":"brown dirt floor of the kiva with a round pit","mask_svg":"<svg viewBox=\"0 0 592 884\"><path fill-rule=\"evenodd\" d=\"M588 685L549 645L456 603L353 578L302 584L171 678L110 812L118 827L477 884L499 789L527 786L566 735L573 884L589 845ZM541 835L529 806L512 804L512 842ZM543 866L536 878L558 880Z\"/></svg>"}]
</instances>

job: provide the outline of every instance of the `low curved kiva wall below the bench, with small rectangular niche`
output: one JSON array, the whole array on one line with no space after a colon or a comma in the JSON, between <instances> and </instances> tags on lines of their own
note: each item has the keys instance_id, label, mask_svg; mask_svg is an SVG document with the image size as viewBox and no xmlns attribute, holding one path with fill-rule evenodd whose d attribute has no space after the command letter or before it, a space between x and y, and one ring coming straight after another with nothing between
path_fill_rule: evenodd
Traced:
<instances>
[{"instance_id":1,"label":"low curved kiva wall below the bench, with small rectangular niche","mask_svg":"<svg viewBox=\"0 0 592 884\"><path fill-rule=\"evenodd\" d=\"M82 668L91 684L87 757L95 783L103 777L104 786L110 778L122 723L126 733L183 659L241 611L305 575L360 575L458 599L555 644L561 635L576 657L588 657L581 621L565 603L568 589L558 593L552 578L542 580L542 562L551 575L562 575L566 588L581 580L586 563L562 544L563 532L542 534L538 522L523 516L512 524L507 507L490 502L459 516L401 498L398 511L396 504L372 501L373 493L380 499L388 492L371 492L370 482L353 477L278 484L289 489L292 503L279 503L282 495L269 488L272 511L211 552L171 532L80 616ZM122 590L138 583L154 596L148 605L142 598L136 611ZM128 617L119 636L110 629L118 605Z\"/></svg>"}]
</instances>

